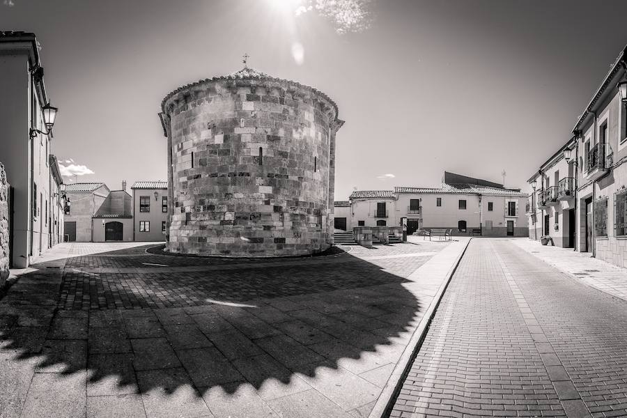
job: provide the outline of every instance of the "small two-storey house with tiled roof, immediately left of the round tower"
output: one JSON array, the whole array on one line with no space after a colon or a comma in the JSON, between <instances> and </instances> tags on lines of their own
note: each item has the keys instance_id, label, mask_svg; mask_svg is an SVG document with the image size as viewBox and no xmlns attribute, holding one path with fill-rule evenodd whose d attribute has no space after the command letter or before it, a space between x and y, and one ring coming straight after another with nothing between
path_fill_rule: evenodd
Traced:
<instances>
[{"instance_id":1,"label":"small two-storey house with tiled roof, immediately left of the round tower","mask_svg":"<svg viewBox=\"0 0 627 418\"><path fill-rule=\"evenodd\" d=\"M134 241L165 241L168 220L168 183L137 181L132 187Z\"/></svg>"}]
</instances>

